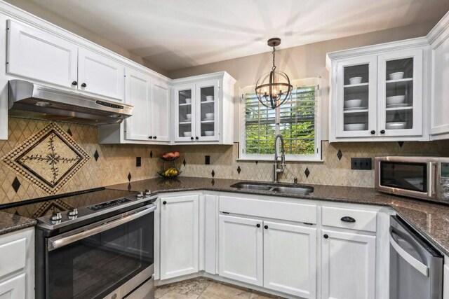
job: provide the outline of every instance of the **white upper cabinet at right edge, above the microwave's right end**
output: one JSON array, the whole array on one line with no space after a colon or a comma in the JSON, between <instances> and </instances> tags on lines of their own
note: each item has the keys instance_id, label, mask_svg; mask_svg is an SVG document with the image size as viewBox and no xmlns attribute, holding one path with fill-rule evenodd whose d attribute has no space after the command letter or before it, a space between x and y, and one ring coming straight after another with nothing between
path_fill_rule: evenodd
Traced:
<instances>
[{"instance_id":1,"label":"white upper cabinet at right edge, above the microwave's right end","mask_svg":"<svg viewBox=\"0 0 449 299\"><path fill-rule=\"evenodd\" d=\"M431 139L449 139L449 13L431 30Z\"/></svg>"}]
</instances>

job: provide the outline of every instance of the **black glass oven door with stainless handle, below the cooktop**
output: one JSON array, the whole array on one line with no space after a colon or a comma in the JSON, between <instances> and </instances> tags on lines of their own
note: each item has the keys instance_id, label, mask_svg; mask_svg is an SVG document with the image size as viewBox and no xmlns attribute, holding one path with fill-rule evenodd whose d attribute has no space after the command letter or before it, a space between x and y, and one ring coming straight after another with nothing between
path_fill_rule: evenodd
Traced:
<instances>
[{"instance_id":1,"label":"black glass oven door with stainless handle, below the cooktop","mask_svg":"<svg viewBox=\"0 0 449 299\"><path fill-rule=\"evenodd\" d=\"M154 274L154 204L48 239L46 298L120 298ZM136 281L138 279L138 281Z\"/></svg>"}]
</instances>

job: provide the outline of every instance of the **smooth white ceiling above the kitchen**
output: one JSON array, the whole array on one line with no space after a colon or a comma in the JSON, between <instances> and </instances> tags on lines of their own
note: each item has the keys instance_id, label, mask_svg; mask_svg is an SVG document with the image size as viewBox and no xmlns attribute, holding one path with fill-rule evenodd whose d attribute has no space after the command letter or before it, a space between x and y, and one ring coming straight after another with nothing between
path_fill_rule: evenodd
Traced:
<instances>
[{"instance_id":1,"label":"smooth white ceiling above the kitchen","mask_svg":"<svg viewBox=\"0 0 449 299\"><path fill-rule=\"evenodd\" d=\"M448 0L32 0L173 71L424 22Z\"/></svg>"}]
</instances>

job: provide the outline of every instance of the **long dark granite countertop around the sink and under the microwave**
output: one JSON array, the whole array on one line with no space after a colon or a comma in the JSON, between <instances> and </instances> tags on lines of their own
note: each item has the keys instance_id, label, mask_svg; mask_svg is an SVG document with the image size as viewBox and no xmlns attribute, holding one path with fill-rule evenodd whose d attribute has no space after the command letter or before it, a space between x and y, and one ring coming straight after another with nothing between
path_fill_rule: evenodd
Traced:
<instances>
[{"instance_id":1,"label":"long dark granite countertop around the sink and under the microwave","mask_svg":"<svg viewBox=\"0 0 449 299\"><path fill-rule=\"evenodd\" d=\"M374 188L359 188L346 186L314 186L314 192L310 195L292 195L286 193L274 193L262 190L243 190L232 188L238 183L230 179L205 179L193 177L177 177L176 179L148 179L134 181L119 185L108 186L121 190L152 190L155 193L167 193L189 190L213 190L232 193L248 193L257 195L270 195L279 197L292 197L309 200L326 200L334 202L349 202L356 204L375 204L393 208L396 213L404 218L438 249L449 256L449 206L433 204L419 200L413 200L396 195L388 195L377 192Z\"/></svg>"}]
</instances>

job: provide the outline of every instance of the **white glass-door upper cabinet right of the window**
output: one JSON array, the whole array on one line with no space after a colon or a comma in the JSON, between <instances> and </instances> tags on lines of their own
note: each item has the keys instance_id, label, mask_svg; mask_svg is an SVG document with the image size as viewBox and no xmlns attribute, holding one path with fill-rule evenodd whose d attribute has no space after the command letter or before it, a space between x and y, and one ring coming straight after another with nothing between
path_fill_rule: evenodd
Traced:
<instances>
[{"instance_id":1,"label":"white glass-door upper cabinet right of the window","mask_svg":"<svg viewBox=\"0 0 449 299\"><path fill-rule=\"evenodd\" d=\"M328 53L329 140L427 140L424 38Z\"/></svg>"}]
</instances>

